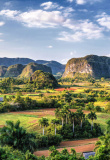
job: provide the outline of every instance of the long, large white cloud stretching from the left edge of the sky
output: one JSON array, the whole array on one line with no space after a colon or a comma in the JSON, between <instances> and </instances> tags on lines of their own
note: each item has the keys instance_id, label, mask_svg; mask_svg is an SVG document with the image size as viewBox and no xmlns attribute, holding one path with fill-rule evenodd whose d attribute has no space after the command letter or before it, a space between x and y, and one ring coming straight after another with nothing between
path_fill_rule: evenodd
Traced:
<instances>
[{"instance_id":1,"label":"long, large white cloud stretching from the left edge of the sky","mask_svg":"<svg viewBox=\"0 0 110 160\"><path fill-rule=\"evenodd\" d=\"M31 10L20 13L19 11L2 10L0 15L19 21L27 27L36 28L52 28L61 25L64 21L60 11Z\"/></svg>"}]
</instances>

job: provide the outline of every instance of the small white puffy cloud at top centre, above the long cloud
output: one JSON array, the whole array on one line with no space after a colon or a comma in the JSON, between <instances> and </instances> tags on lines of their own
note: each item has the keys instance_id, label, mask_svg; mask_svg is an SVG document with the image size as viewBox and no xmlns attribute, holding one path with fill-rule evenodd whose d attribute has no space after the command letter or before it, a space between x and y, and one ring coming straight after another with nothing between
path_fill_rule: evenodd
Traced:
<instances>
[{"instance_id":1,"label":"small white puffy cloud at top centre, above the long cloud","mask_svg":"<svg viewBox=\"0 0 110 160\"><path fill-rule=\"evenodd\" d=\"M54 9L54 8L59 7L57 3L53 3L51 1L42 3L40 6L43 7L45 10Z\"/></svg>"}]
</instances>

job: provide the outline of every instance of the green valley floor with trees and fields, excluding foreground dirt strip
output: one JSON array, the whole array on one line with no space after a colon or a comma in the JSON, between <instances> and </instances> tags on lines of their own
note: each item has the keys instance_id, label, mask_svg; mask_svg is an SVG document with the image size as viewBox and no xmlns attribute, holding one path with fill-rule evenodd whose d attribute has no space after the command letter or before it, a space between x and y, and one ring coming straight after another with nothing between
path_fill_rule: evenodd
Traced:
<instances>
[{"instance_id":1,"label":"green valley floor with trees and fields, excluding foreground dirt strip","mask_svg":"<svg viewBox=\"0 0 110 160\"><path fill-rule=\"evenodd\" d=\"M96 155L89 160L109 160L109 85L109 79L80 74L57 82L39 70L28 79L1 78L0 158L84 160L74 149L70 153L51 146L101 136ZM49 147L50 156L35 156L35 151Z\"/></svg>"}]
</instances>

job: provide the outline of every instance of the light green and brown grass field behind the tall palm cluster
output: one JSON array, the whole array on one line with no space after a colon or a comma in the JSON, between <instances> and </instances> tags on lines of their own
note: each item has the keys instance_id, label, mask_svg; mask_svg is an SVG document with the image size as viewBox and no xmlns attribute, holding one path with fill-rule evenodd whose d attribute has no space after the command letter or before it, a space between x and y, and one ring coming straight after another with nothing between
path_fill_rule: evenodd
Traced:
<instances>
[{"instance_id":1,"label":"light green and brown grass field behind the tall palm cluster","mask_svg":"<svg viewBox=\"0 0 110 160\"><path fill-rule=\"evenodd\" d=\"M76 111L72 109L71 111ZM85 114L88 114L89 111L85 111ZM41 117L46 117L49 121L54 116L54 109L40 109L33 111L24 111L24 112L11 112L0 114L0 126L5 125L5 121L10 120L16 122L17 120L21 121L21 126L25 127L28 131L37 131L42 132L42 129L39 127L38 120ZM97 113L97 120L94 120L94 123L99 123L101 129L105 132L107 124L106 122L110 119L110 114L107 113Z\"/></svg>"}]
</instances>

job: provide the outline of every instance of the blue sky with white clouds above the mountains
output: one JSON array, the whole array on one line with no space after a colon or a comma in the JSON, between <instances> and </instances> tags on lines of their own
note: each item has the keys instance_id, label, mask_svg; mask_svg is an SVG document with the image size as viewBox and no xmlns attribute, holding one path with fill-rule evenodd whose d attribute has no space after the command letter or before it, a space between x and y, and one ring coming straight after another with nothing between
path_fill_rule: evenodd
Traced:
<instances>
[{"instance_id":1,"label":"blue sky with white clouds above the mountains","mask_svg":"<svg viewBox=\"0 0 110 160\"><path fill-rule=\"evenodd\" d=\"M0 0L0 57L110 56L110 0Z\"/></svg>"}]
</instances>

